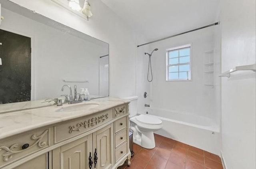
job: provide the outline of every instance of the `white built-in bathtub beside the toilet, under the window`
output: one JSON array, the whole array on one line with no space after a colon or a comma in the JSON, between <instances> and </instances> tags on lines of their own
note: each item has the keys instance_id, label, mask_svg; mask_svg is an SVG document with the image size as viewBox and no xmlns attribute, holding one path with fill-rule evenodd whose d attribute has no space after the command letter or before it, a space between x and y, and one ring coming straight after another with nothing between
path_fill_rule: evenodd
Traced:
<instances>
[{"instance_id":1,"label":"white built-in bathtub beside the toilet, under the window","mask_svg":"<svg viewBox=\"0 0 256 169\"><path fill-rule=\"evenodd\" d=\"M164 125L154 133L220 155L220 129L212 119L162 109L145 109L141 113L146 112Z\"/></svg>"}]
</instances>

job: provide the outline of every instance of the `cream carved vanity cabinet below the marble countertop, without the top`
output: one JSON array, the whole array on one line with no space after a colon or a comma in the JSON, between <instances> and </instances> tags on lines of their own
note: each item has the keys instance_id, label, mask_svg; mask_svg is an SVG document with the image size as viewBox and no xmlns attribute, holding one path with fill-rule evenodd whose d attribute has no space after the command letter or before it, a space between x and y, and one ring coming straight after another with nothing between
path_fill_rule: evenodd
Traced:
<instances>
[{"instance_id":1,"label":"cream carved vanity cabinet below the marble countertop, without the top","mask_svg":"<svg viewBox=\"0 0 256 169\"><path fill-rule=\"evenodd\" d=\"M0 169L116 169L128 138L124 104L0 140Z\"/></svg>"}]
</instances>

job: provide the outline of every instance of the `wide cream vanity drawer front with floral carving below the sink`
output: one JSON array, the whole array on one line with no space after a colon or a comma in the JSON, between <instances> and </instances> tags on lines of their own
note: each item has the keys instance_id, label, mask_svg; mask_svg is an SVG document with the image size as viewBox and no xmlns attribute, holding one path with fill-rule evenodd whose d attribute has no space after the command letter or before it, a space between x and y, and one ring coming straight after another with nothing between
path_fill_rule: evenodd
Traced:
<instances>
[{"instance_id":1,"label":"wide cream vanity drawer front with floral carving below the sink","mask_svg":"<svg viewBox=\"0 0 256 169\"><path fill-rule=\"evenodd\" d=\"M75 137L112 120L113 109L54 126L54 143Z\"/></svg>"}]
</instances>

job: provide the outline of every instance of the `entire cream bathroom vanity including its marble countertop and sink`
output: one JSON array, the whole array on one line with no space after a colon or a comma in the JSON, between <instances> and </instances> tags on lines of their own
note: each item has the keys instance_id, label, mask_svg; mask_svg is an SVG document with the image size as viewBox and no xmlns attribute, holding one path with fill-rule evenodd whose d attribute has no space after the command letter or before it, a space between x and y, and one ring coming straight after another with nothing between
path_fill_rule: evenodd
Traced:
<instances>
[{"instance_id":1,"label":"entire cream bathroom vanity including its marble countertop and sink","mask_svg":"<svg viewBox=\"0 0 256 169\"><path fill-rule=\"evenodd\" d=\"M0 114L1 169L116 169L130 165L128 103L99 98Z\"/></svg>"}]
</instances>

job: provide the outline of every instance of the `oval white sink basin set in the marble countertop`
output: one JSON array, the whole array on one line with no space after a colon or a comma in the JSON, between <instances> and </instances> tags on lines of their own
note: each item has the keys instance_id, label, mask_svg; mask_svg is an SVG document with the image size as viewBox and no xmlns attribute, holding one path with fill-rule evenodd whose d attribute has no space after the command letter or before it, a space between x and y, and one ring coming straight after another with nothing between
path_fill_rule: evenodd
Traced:
<instances>
[{"instance_id":1,"label":"oval white sink basin set in the marble countertop","mask_svg":"<svg viewBox=\"0 0 256 169\"><path fill-rule=\"evenodd\" d=\"M74 105L68 105L65 107L60 107L59 109L56 109L55 112L74 112L74 111L82 111L82 110L88 110L92 109L94 107L97 107L100 105L99 103L77 103Z\"/></svg>"}]
</instances>

